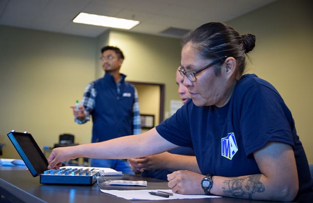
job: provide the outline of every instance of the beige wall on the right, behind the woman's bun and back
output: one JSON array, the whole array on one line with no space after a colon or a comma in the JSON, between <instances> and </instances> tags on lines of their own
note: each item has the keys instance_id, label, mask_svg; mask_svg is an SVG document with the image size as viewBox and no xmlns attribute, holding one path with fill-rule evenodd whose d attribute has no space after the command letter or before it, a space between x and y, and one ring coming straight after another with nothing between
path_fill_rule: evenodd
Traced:
<instances>
[{"instance_id":1,"label":"beige wall on the right, behind the woman's bun and back","mask_svg":"<svg viewBox=\"0 0 313 203\"><path fill-rule=\"evenodd\" d=\"M256 35L248 72L256 73L278 89L313 164L312 8L311 0L278 0L227 23L240 33Z\"/></svg>"}]
</instances>

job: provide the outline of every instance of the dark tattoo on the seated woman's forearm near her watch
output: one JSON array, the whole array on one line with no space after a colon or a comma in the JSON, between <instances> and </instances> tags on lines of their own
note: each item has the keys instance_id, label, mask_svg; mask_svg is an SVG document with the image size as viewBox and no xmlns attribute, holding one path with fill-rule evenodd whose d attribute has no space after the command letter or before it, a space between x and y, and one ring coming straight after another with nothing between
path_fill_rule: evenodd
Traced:
<instances>
[{"instance_id":1,"label":"dark tattoo on the seated woman's forearm near her watch","mask_svg":"<svg viewBox=\"0 0 313 203\"><path fill-rule=\"evenodd\" d=\"M256 192L264 192L265 187L260 182L261 174L250 175L246 178L237 178L224 181L223 192L231 193L233 197L252 199Z\"/></svg>"}]
</instances>

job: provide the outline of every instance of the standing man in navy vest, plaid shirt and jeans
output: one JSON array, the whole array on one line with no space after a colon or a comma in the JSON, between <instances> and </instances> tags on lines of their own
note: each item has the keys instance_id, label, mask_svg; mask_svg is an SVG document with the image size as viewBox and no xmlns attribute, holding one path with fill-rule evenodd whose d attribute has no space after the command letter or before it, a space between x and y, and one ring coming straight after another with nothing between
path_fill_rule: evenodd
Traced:
<instances>
[{"instance_id":1,"label":"standing man in navy vest, plaid shirt and jeans","mask_svg":"<svg viewBox=\"0 0 313 203\"><path fill-rule=\"evenodd\" d=\"M101 49L103 78L90 82L85 88L81 105L71 106L75 122L82 124L92 116L91 142L102 142L126 135L141 133L138 93L134 85L120 73L123 52L113 46ZM134 174L124 160L90 159L93 167L109 167Z\"/></svg>"}]
</instances>

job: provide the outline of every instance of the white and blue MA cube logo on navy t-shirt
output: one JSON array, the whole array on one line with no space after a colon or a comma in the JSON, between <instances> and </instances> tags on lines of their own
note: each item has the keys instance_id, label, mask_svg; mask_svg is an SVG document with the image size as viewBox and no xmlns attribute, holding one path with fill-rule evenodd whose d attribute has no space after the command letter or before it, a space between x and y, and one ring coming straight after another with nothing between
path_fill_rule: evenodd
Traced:
<instances>
[{"instance_id":1,"label":"white and blue MA cube logo on navy t-shirt","mask_svg":"<svg viewBox=\"0 0 313 203\"><path fill-rule=\"evenodd\" d=\"M227 137L222 138L222 156L231 160L238 151L234 133L228 133Z\"/></svg>"}]
</instances>

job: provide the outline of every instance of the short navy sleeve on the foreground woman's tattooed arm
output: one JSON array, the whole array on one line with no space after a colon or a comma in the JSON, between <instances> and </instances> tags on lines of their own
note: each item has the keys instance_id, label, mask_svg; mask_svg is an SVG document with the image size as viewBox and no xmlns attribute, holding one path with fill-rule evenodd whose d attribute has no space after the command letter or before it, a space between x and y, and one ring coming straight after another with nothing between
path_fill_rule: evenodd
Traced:
<instances>
[{"instance_id":1,"label":"short navy sleeve on the foreground woman's tattooed arm","mask_svg":"<svg viewBox=\"0 0 313 203\"><path fill-rule=\"evenodd\" d=\"M247 156L268 142L294 146L291 112L277 92L268 86L254 85L244 98L239 125Z\"/></svg>"}]
</instances>

